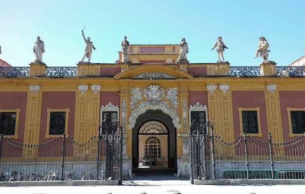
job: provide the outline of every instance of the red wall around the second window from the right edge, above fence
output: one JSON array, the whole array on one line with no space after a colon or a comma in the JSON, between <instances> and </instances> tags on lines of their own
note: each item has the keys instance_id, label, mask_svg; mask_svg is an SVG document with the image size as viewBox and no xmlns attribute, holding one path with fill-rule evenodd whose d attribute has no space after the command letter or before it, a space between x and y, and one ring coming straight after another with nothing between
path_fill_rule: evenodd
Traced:
<instances>
[{"instance_id":1,"label":"red wall around the second window from the right edge, above fence","mask_svg":"<svg viewBox=\"0 0 305 194\"><path fill-rule=\"evenodd\" d=\"M256 108L260 107L262 140L268 140L267 114L264 91L232 91L234 137L240 134L238 107ZM271 134L272 136L272 134Z\"/></svg>"}]
</instances>

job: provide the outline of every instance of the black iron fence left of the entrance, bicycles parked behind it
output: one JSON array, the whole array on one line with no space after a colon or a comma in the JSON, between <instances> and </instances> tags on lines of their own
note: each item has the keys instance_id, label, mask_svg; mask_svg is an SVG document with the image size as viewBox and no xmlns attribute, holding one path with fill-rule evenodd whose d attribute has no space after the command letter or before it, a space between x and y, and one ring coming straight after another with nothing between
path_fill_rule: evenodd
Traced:
<instances>
[{"instance_id":1,"label":"black iron fence left of the entrance, bicycles parked behind it","mask_svg":"<svg viewBox=\"0 0 305 194\"><path fill-rule=\"evenodd\" d=\"M121 172L121 138L99 134L79 143L63 135L26 144L1 135L0 181L120 179L113 169Z\"/></svg>"}]
</instances>

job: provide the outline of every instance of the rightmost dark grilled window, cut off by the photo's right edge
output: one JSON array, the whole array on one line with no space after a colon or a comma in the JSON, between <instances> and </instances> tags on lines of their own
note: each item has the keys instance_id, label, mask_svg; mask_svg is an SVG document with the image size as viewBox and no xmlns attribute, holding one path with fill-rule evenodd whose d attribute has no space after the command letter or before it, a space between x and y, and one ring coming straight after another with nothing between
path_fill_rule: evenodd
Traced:
<instances>
[{"instance_id":1,"label":"rightmost dark grilled window, cut off by the photo's right edge","mask_svg":"<svg viewBox=\"0 0 305 194\"><path fill-rule=\"evenodd\" d=\"M290 111L292 133L305 132L305 111Z\"/></svg>"}]
</instances>

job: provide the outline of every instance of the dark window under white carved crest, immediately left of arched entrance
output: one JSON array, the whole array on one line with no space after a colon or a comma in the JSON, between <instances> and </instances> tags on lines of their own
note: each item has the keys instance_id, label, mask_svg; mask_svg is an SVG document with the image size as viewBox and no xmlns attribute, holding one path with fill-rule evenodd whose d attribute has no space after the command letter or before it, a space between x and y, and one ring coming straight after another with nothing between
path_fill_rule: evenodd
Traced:
<instances>
[{"instance_id":1,"label":"dark window under white carved crest, immediately left of arched entrance","mask_svg":"<svg viewBox=\"0 0 305 194\"><path fill-rule=\"evenodd\" d=\"M106 134L106 129L108 134L115 133L117 114L117 111L102 111L102 134Z\"/></svg>"}]
</instances>

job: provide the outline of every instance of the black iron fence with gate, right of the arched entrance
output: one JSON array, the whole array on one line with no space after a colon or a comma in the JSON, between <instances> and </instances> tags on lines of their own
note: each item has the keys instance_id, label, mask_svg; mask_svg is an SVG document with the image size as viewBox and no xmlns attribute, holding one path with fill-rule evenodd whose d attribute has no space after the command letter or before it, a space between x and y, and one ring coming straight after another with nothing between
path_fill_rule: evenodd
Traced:
<instances>
[{"instance_id":1,"label":"black iron fence with gate, right of the arched entrance","mask_svg":"<svg viewBox=\"0 0 305 194\"><path fill-rule=\"evenodd\" d=\"M206 126L198 126L206 127ZM191 130L190 130L191 131ZM220 136L190 132L190 178L304 179L305 138L260 140L244 133L227 142Z\"/></svg>"}]
</instances>

